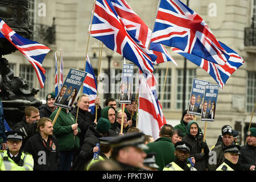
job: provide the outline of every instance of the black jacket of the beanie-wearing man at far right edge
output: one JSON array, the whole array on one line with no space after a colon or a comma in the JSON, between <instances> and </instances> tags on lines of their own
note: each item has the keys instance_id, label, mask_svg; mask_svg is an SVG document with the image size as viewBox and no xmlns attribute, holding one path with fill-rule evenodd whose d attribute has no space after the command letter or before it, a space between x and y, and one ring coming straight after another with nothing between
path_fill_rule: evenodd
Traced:
<instances>
[{"instance_id":1,"label":"black jacket of the beanie-wearing man at far right edge","mask_svg":"<svg viewBox=\"0 0 256 182\"><path fill-rule=\"evenodd\" d=\"M249 146L246 144L240 149L241 155L239 156L239 163L246 171L250 170L252 165L256 164L256 147Z\"/></svg>"}]
</instances>

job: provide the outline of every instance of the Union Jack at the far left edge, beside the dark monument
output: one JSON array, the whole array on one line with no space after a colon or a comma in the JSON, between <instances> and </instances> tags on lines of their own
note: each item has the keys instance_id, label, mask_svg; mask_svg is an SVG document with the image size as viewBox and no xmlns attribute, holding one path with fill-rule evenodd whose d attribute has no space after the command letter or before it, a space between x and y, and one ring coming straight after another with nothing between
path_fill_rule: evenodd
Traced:
<instances>
[{"instance_id":1,"label":"Union Jack at the far left edge, beside the dark monument","mask_svg":"<svg viewBox=\"0 0 256 182\"><path fill-rule=\"evenodd\" d=\"M44 57L46 57L51 49L43 44L19 36L5 22L3 22L2 19L0 19L0 32L32 64L36 76L38 77L40 87L43 88L44 81L46 80L46 77L44 76L46 70L42 67L42 64Z\"/></svg>"}]
</instances>

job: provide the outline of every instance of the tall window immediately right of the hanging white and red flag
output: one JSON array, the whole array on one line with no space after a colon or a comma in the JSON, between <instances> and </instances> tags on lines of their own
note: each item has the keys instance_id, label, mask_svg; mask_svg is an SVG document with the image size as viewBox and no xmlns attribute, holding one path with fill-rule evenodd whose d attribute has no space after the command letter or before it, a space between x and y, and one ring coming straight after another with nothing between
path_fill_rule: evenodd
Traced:
<instances>
[{"instance_id":1,"label":"tall window immediately right of the hanging white and red flag","mask_svg":"<svg viewBox=\"0 0 256 182\"><path fill-rule=\"evenodd\" d=\"M163 109L170 109L171 108L171 69L168 69L167 78L166 78L166 85L164 86L164 78L166 77L166 69L155 69L154 75L158 80L158 100L162 102L162 95L163 95L163 87L164 87L164 95L163 95Z\"/></svg>"}]
</instances>

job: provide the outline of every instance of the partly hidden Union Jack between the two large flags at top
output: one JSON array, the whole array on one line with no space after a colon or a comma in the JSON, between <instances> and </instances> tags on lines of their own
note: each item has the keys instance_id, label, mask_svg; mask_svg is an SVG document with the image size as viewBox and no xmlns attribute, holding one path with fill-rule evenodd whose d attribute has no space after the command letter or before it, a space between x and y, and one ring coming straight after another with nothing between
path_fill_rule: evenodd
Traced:
<instances>
[{"instance_id":1,"label":"partly hidden Union Jack between the two large flags at top","mask_svg":"<svg viewBox=\"0 0 256 182\"><path fill-rule=\"evenodd\" d=\"M148 47L152 31L147 27L146 23L144 23L143 20L133 11L133 9L131 9L125 0L110 1L112 2L118 16L125 24L127 31L138 39L145 47ZM154 53L154 55L157 56L154 64L172 61L175 65L177 65L176 61L162 44L150 43L149 49Z\"/></svg>"}]
</instances>

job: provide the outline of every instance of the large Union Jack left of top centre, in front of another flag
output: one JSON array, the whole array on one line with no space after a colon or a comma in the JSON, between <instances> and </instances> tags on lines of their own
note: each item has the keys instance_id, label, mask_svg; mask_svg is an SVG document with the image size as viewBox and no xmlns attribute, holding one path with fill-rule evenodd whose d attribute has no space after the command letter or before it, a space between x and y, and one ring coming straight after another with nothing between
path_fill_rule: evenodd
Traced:
<instances>
[{"instance_id":1,"label":"large Union Jack left of top centre, in front of another flag","mask_svg":"<svg viewBox=\"0 0 256 182\"><path fill-rule=\"evenodd\" d=\"M109 0L97 0L90 35L106 47L136 64L143 73L152 73L156 56L127 31Z\"/></svg>"}]
</instances>

